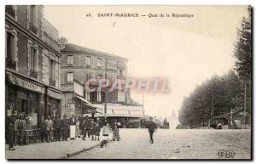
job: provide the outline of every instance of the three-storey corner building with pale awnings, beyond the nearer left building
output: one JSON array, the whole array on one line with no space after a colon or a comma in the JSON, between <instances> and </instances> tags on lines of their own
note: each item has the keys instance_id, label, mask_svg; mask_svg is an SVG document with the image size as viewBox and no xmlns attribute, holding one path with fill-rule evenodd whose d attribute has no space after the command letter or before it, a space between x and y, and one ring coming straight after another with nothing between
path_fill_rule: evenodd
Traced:
<instances>
[{"instance_id":1,"label":"three-storey corner building with pale awnings, beyond the nearer left building","mask_svg":"<svg viewBox=\"0 0 256 164\"><path fill-rule=\"evenodd\" d=\"M98 82L105 79L106 74L110 86L116 79L119 79L124 87L127 79L128 59L67 43L64 38L61 42L61 90L65 98L62 101L62 109L67 109L66 113L70 110L68 106L72 105L76 116L90 115L92 112L96 117L103 117L107 97L108 118L143 117L141 105L129 105L129 92L118 89L109 92L110 87L103 88L100 92L90 92L85 89L85 83L90 79L97 80L90 82L90 88L98 88ZM79 91L73 92L73 89L69 88L73 83L79 83ZM107 96L105 91L107 91ZM77 107L79 104L74 103L73 99L77 96L84 99L84 110L79 109ZM90 106L88 102L91 103Z\"/></svg>"}]
</instances>

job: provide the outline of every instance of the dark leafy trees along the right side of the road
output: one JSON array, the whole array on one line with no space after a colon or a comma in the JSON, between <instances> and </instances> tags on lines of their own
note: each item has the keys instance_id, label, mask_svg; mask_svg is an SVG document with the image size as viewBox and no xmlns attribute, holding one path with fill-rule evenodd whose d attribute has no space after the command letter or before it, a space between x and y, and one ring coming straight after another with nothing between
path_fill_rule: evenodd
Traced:
<instances>
[{"instance_id":1,"label":"dark leafy trees along the right side of the road","mask_svg":"<svg viewBox=\"0 0 256 164\"><path fill-rule=\"evenodd\" d=\"M212 76L197 86L189 97L183 99L179 110L179 122L190 127L207 124L212 116L219 116L233 110L247 110L252 107L252 33L251 9L248 17L241 21L234 43L236 66L224 76ZM245 96L246 95L246 96Z\"/></svg>"}]
</instances>

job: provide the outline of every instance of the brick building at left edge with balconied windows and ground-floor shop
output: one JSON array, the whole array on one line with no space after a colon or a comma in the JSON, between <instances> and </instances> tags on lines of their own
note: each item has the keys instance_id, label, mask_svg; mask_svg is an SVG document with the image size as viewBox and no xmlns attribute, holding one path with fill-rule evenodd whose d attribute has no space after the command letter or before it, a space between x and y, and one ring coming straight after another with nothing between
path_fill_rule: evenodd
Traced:
<instances>
[{"instance_id":1,"label":"brick building at left edge with balconied windows and ground-floor shop","mask_svg":"<svg viewBox=\"0 0 256 164\"><path fill-rule=\"evenodd\" d=\"M7 115L61 113L60 44L58 31L44 19L44 6L5 8L5 110Z\"/></svg>"}]
</instances>

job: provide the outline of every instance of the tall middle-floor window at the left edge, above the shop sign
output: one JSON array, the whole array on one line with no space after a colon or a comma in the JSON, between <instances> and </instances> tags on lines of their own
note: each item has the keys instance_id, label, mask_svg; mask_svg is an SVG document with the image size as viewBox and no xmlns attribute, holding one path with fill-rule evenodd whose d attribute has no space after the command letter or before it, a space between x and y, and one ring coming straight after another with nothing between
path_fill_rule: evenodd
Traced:
<instances>
[{"instance_id":1,"label":"tall middle-floor window at the left edge, above the shop sign","mask_svg":"<svg viewBox=\"0 0 256 164\"><path fill-rule=\"evenodd\" d=\"M7 32L6 35L6 58L15 60L15 36L10 32Z\"/></svg>"}]
</instances>

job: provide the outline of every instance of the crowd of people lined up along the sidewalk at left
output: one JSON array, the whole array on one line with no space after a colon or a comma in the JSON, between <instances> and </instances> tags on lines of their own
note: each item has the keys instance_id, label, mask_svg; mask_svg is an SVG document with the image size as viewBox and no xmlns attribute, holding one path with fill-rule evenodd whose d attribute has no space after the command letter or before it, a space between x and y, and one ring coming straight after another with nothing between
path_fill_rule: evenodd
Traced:
<instances>
[{"instance_id":1,"label":"crowd of people lined up along the sidewalk at left","mask_svg":"<svg viewBox=\"0 0 256 164\"><path fill-rule=\"evenodd\" d=\"M108 140L109 133L113 133L113 140L119 141L119 122L112 122L109 126L107 122L99 119L90 119L88 116L83 118L71 116L63 119L59 115L55 117L44 116L38 120L36 128L32 126L32 116L20 114L15 116L13 111L7 118L7 143L9 150L15 150L15 144L29 144L30 140L35 140L35 132L38 133L42 143L67 141L67 139L86 138L91 140ZM36 140L34 142L37 142Z\"/></svg>"}]
</instances>

